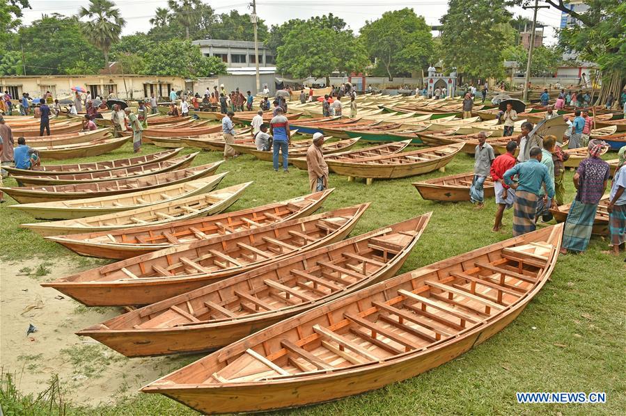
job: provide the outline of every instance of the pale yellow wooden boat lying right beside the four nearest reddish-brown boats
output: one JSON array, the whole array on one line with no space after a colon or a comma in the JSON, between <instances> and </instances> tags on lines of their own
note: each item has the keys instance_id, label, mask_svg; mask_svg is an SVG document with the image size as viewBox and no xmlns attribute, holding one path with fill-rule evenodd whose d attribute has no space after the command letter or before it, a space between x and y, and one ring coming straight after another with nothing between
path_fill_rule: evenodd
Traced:
<instances>
[{"instance_id":1,"label":"pale yellow wooden boat lying right beside the four nearest reddish-brown boats","mask_svg":"<svg viewBox=\"0 0 626 416\"><path fill-rule=\"evenodd\" d=\"M87 218L77 218L47 223L22 224L42 237L124 230L136 226L162 225L174 221L185 221L200 216L217 214L233 205L252 182L228 186L209 193L189 196L180 200L166 201L127 211L115 212Z\"/></svg>"}]
</instances>

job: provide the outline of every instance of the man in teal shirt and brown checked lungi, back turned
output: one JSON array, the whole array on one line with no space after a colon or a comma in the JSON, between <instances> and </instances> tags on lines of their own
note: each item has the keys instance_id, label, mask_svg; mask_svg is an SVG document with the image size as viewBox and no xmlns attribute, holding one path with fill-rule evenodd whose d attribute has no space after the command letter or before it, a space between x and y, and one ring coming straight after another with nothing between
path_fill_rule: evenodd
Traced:
<instances>
[{"instance_id":1,"label":"man in teal shirt and brown checked lungi, back turned","mask_svg":"<svg viewBox=\"0 0 626 416\"><path fill-rule=\"evenodd\" d=\"M513 205L513 237L535 231L535 215L542 186L547 198L554 198L554 182L550 179L547 166L540 163L542 152L539 147L531 148L531 158L517 163L504 173L504 183L515 189ZM517 183L512 177L518 176Z\"/></svg>"}]
</instances>

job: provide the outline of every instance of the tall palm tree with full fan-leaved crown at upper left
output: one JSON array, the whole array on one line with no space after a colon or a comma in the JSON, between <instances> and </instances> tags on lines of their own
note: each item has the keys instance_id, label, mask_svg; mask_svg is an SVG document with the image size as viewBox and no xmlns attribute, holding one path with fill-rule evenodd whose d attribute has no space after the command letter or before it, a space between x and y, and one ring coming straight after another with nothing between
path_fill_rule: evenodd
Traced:
<instances>
[{"instance_id":1,"label":"tall palm tree with full fan-leaved crown at upper left","mask_svg":"<svg viewBox=\"0 0 626 416\"><path fill-rule=\"evenodd\" d=\"M111 45L120 40L120 33L126 24L120 10L109 0L89 0L89 7L81 7L78 17L87 17L83 23L83 31L87 39L104 54L104 63L109 65ZM111 69L109 68L109 71Z\"/></svg>"}]
</instances>

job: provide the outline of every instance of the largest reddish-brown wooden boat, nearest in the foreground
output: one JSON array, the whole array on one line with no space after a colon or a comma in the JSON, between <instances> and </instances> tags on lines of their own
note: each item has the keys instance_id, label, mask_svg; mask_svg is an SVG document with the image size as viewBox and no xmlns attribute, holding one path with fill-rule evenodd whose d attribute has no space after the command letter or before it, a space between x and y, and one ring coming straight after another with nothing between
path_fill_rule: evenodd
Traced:
<instances>
[{"instance_id":1,"label":"largest reddish-brown wooden boat, nearest in the foreground","mask_svg":"<svg viewBox=\"0 0 626 416\"><path fill-rule=\"evenodd\" d=\"M240 413L340 399L411 378L508 326L549 279L562 229L547 227L384 280L141 390L203 414Z\"/></svg>"}]
</instances>

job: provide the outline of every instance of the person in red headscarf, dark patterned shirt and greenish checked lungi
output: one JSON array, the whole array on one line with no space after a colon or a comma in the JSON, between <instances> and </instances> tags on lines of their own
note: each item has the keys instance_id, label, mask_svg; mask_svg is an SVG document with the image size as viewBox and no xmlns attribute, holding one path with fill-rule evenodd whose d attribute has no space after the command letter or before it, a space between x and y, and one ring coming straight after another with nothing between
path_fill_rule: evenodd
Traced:
<instances>
[{"instance_id":1,"label":"person in red headscarf, dark patterned shirt and greenish checked lungi","mask_svg":"<svg viewBox=\"0 0 626 416\"><path fill-rule=\"evenodd\" d=\"M581 161L574 174L574 187L577 193L563 229L563 244L561 245L563 254L568 251L584 252L591 238L595 211L609 181L609 163L600 159L604 146L607 146L607 143L603 141L590 141L589 157Z\"/></svg>"}]
</instances>

